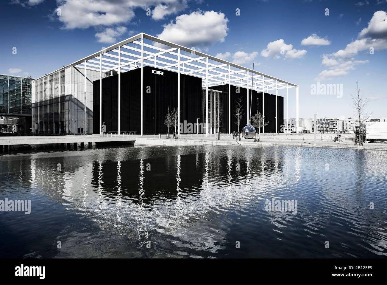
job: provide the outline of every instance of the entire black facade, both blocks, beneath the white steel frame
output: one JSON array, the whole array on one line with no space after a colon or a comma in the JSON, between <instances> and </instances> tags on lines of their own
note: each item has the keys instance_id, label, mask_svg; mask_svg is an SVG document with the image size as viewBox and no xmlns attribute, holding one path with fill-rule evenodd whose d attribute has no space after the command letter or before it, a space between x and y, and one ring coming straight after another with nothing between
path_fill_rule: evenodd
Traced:
<instances>
[{"instance_id":1,"label":"entire black facade, both blocks, beneath the white steel frame","mask_svg":"<svg viewBox=\"0 0 387 285\"><path fill-rule=\"evenodd\" d=\"M141 133L141 69L134 69L121 74L121 131L136 131ZM165 115L178 104L178 73L158 69L156 67L144 67L144 135L166 133L164 124ZM220 124L222 133L228 133L228 84L211 86L209 89L219 90L216 106L222 109L223 120ZM210 92L210 90L209 90ZM251 90L248 90L249 100ZM204 93L205 94L205 93ZM180 74L180 123L203 123L205 127L205 95L202 90L202 79L195 76ZM211 97L212 98L212 97ZM209 100L212 100L209 97ZM215 97L214 97L215 98ZM231 86L231 132L237 131L235 119L236 101L242 98L243 112L240 129L247 124L247 89ZM265 133L274 133L276 96L265 93L265 119L269 125L265 127ZM212 102L212 101L211 101ZM93 130L99 133L99 80L93 82ZM209 110L210 102L209 102ZM262 92L253 90L252 114L256 111L262 113ZM209 114L209 121L212 113ZM283 97L277 96L277 131L281 131L283 124ZM102 123L106 125L106 132L118 131L118 74L102 79ZM208 122L210 127L210 122ZM212 119L212 127L214 126ZM175 129L171 128L170 132ZM177 131L177 130L176 130ZM196 132L196 129L193 130ZM262 130L261 130L262 131Z\"/></svg>"}]
</instances>

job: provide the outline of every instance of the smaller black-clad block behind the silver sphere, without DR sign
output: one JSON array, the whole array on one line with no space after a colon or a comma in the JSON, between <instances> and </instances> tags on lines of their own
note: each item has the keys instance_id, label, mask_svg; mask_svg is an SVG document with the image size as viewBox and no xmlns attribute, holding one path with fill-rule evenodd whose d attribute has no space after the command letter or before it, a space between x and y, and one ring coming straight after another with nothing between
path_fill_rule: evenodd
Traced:
<instances>
[{"instance_id":1,"label":"smaller black-clad block behind the silver sphere, without DR sign","mask_svg":"<svg viewBox=\"0 0 387 285\"><path fill-rule=\"evenodd\" d=\"M224 94L223 101L223 114L224 114L224 129L228 132L228 84L211 86L211 89L220 90ZM239 125L241 129L247 124L247 89L240 86L231 85L231 133L237 131L237 122L234 116L235 107L239 98L242 98L241 105L243 108L243 116ZM251 112L254 115L257 110L262 114L262 92L257 92L253 90L253 95L251 96L251 90L248 90L249 102L252 100ZM250 109L249 109L250 112ZM277 131L283 132L281 130L281 124L284 121L284 98L282 96L277 96ZM265 92L265 121L269 121L269 124L265 126L265 133L275 133L276 132L276 95ZM262 131L262 130L261 130Z\"/></svg>"}]
</instances>

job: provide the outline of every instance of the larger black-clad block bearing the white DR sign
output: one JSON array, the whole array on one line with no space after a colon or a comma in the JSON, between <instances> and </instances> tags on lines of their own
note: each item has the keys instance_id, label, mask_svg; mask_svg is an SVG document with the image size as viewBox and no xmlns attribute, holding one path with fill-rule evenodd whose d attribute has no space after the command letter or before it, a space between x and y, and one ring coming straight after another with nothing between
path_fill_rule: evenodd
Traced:
<instances>
[{"instance_id":1,"label":"larger black-clad block bearing the white DR sign","mask_svg":"<svg viewBox=\"0 0 387 285\"><path fill-rule=\"evenodd\" d=\"M141 131L140 82L141 69L121 73L121 131ZM200 117L201 85L201 78L180 74L181 123L196 123ZM166 133L164 118L168 106L170 112L177 108L177 86L178 73L144 67L144 134ZM99 118L99 80L94 81L93 102L95 117ZM102 122L106 131L118 131L118 75L102 79ZM94 133L99 133L99 119L93 123Z\"/></svg>"}]
</instances>

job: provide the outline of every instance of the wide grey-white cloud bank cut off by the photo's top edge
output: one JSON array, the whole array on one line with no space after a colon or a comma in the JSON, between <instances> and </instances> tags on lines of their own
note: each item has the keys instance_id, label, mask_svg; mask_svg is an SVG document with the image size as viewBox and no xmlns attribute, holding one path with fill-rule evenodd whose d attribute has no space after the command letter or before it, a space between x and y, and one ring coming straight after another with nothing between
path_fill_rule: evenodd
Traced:
<instances>
[{"instance_id":1,"label":"wide grey-white cloud bank cut off by the photo's top edge","mask_svg":"<svg viewBox=\"0 0 387 285\"><path fill-rule=\"evenodd\" d=\"M187 0L57 0L57 3L57 8L61 9L58 19L65 29L127 23L133 19L137 8L154 7L151 15L155 20L187 8Z\"/></svg>"}]
</instances>

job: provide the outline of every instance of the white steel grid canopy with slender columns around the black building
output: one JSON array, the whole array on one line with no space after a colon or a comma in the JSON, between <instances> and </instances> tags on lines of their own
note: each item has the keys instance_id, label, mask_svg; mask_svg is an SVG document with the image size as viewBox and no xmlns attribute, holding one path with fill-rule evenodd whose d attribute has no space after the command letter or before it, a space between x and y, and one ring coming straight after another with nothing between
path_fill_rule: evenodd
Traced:
<instances>
[{"instance_id":1,"label":"white steel grid canopy with slender columns around the black building","mask_svg":"<svg viewBox=\"0 0 387 285\"><path fill-rule=\"evenodd\" d=\"M147 42L145 42L147 41ZM141 67L141 86L144 83L144 66L152 66L160 69L174 71L178 73L178 110L180 110L180 74L189 74L202 78L202 87L206 89L206 126L205 130L209 133L208 128L208 88L216 85L228 84L229 90L229 105L228 105L228 122L229 133L231 133L231 102L230 91L231 85L240 86L251 90L251 88L257 92L263 92L262 98L264 98L264 90L266 92L275 90L276 92L276 106L277 95L280 89L286 89L286 122L288 122L288 88L296 88L296 130L299 131L298 126L298 85L284 81L279 78L269 76L258 71L253 71L247 67L228 62L223 59L213 57L208 54L196 51L191 48L183 47L169 41L164 41L145 33L132 36L119 43L111 45L108 48L100 50L92 55L89 55L83 59L77 60L68 66L62 67L59 70L66 69L67 67L79 67L86 69L99 71L99 99L101 102L102 97L102 73L108 73L111 71L118 72L118 131L120 133L120 102L121 102L121 73L127 72L132 69ZM54 71L53 73L57 72ZM86 72L84 73L86 76ZM47 76L49 74L46 74ZM42 76L44 77L44 76ZM39 78L38 78L39 79ZM35 80L38 80L35 79ZM228 80L227 80L228 79ZM226 82L226 80L228 82ZM86 82L86 80L85 80ZM86 88L86 86L85 86ZM144 90L141 88L141 135L144 135ZM249 94L249 92L247 92ZM250 98L247 99L248 101ZM263 99L262 99L263 101ZM85 98L86 105L86 98ZM264 102L262 102L264 106ZM101 119L101 104L99 111L99 125L102 126ZM247 108L247 112L250 111ZM264 115L264 114L263 114ZM86 112L85 112L86 116ZM277 123L277 108L276 108L276 123ZM248 120L248 119L247 119ZM179 116L180 123L180 116ZM288 126L286 126L288 128ZM180 128L178 128L178 134L180 134ZM264 133L264 128L262 128ZM276 124L277 132L277 124ZM100 128L101 133L101 128Z\"/></svg>"}]
</instances>

